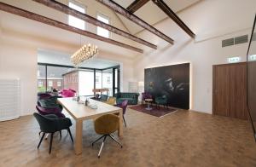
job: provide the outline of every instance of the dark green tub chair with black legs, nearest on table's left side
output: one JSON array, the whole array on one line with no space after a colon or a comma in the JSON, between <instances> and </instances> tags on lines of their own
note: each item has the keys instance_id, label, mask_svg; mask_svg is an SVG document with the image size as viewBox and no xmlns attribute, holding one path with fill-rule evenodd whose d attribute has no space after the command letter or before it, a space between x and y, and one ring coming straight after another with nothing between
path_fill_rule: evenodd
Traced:
<instances>
[{"instance_id":1,"label":"dark green tub chair with black legs, nearest on table's left side","mask_svg":"<svg viewBox=\"0 0 256 167\"><path fill-rule=\"evenodd\" d=\"M71 141L73 142L73 137L69 129L69 127L72 126L72 122L70 118L58 118L54 114L49 114L44 116L37 112L34 112L33 115L38 121L40 130L43 132L43 135L38 143L38 148L40 147L41 142L44 139L44 135L49 133L50 134L49 153L50 153L53 135L55 134L55 132L58 132L58 131L61 132L61 130L67 130L68 134L70 135Z\"/></svg>"}]
</instances>

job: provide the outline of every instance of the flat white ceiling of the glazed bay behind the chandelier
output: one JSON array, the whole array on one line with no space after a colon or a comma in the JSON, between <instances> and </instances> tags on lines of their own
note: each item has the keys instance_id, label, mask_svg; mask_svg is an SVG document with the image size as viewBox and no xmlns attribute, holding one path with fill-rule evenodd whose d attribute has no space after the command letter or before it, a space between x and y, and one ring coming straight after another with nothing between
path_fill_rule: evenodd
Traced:
<instances>
[{"instance_id":1,"label":"flat white ceiling of the glazed bay behind the chandelier","mask_svg":"<svg viewBox=\"0 0 256 167\"><path fill-rule=\"evenodd\" d=\"M73 63L70 61L70 54L61 53L54 50L46 50L46 49L38 49L38 62L73 66ZM110 60L102 60L99 58L94 58L88 62L82 63L80 66L88 67L88 68L104 69L111 66L119 66L119 63L110 61Z\"/></svg>"}]
</instances>

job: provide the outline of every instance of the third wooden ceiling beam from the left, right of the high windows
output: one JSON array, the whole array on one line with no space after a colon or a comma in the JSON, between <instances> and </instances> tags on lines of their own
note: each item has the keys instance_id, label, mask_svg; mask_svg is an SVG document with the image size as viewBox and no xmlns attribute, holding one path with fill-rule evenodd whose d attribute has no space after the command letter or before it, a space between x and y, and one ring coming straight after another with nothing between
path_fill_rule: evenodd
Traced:
<instances>
[{"instance_id":1,"label":"third wooden ceiling beam from the left, right of the high windows","mask_svg":"<svg viewBox=\"0 0 256 167\"><path fill-rule=\"evenodd\" d=\"M96 0L96 1L107 6L109 9L112 9L114 12L122 14L125 18L133 21L139 26L142 26L143 28L147 29L149 32L152 32L158 37L166 40L168 43L173 44L174 41L171 37L167 37L164 33L158 31L156 28L154 28L154 26L150 26L144 20L138 18L135 14L131 14L131 12L121 7L118 3L114 3L112 0Z\"/></svg>"}]
</instances>

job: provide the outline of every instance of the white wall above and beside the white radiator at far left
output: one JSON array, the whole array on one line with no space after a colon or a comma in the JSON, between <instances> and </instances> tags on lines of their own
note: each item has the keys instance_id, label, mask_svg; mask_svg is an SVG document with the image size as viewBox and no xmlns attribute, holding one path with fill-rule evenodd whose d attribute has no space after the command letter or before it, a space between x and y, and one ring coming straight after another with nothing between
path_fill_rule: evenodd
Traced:
<instances>
[{"instance_id":1,"label":"white wall above and beside the white radiator at far left","mask_svg":"<svg viewBox=\"0 0 256 167\"><path fill-rule=\"evenodd\" d=\"M31 114L37 100L37 50L2 38L0 44L0 77L20 78L20 114Z\"/></svg>"}]
</instances>

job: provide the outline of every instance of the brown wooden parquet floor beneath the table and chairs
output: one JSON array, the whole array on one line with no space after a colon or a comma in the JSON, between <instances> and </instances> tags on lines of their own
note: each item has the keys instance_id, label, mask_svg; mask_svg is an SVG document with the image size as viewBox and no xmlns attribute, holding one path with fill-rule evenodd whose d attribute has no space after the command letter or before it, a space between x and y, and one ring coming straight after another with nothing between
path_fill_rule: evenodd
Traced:
<instances>
[{"instance_id":1,"label":"brown wooden parquet floor beneath the table and chairs","mask_svg":"<svg viewBox=\"0 0 256 167\"><path fill-rule=\"evenodd\" d=\"M90 145L98 137L91 121L84 124L84 152L79 156L74 155L67 131L61 140L55 135L49 154L49 141L37 149L35 118L2 122L0 166L256 166L256 143L247 121L186 111L155 118L131 109L126 121L128 127L120 139L124 147L107 140L100 159L100 143Z\"/></svg>"}]
</instances>

